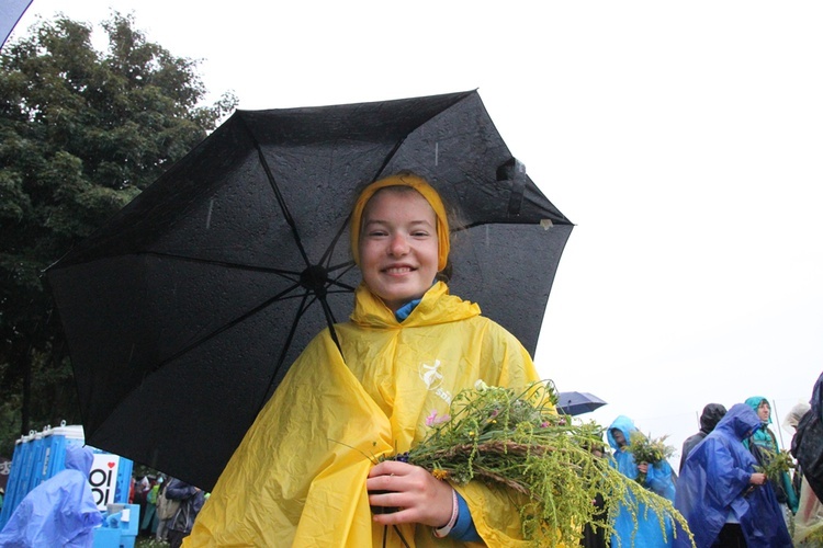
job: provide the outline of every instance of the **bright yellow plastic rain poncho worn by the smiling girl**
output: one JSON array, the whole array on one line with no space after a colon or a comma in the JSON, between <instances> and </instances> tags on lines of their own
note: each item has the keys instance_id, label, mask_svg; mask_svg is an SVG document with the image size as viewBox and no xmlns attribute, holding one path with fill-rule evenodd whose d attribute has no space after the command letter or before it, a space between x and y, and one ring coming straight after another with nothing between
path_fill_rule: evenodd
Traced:
<instances>
[{"instance_id":1,"label":"bright yellow plastic rain poncho worn by the smiling girl","mask_svg":"<svg viewBox=\"0 0 823 548\"><path fill-rule=\"evenodd\" d=\"M482 379L522 387L538 380L517 339L477 305L435 284L398 323L361 285L351 320L328 330L292 365L221 476L187 539L192 546L403 546L372 522L365 479L381 455L408 450L426 418ZM473 481L459 488L488 546L519 546L508 492ZM462 546L424 525L399 527L413 547Z\"/></svg>"}]
</instances>

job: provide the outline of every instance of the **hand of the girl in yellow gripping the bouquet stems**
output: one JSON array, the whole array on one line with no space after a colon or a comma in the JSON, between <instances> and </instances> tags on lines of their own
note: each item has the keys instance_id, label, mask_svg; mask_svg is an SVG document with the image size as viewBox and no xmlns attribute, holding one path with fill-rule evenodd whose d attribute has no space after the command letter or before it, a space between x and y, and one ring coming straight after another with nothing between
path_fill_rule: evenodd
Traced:
<instances>
[{"instance_id":1,"label":"hand of the girl in yellow gripping the bouquet stems","mask_svg":"<svg viewBox=\"0 0 823 548\"><path fill-rule=\"evenodd\" d=\"M452 487L436 479L424 468L385 460L371 469L365 480L372 506L397 507L391 514L374 514L374 521L382 525L420 523L430 527L442 527L452 513ZM387 491L371 494L375 491Z\"/></svg>"}]
</instances>

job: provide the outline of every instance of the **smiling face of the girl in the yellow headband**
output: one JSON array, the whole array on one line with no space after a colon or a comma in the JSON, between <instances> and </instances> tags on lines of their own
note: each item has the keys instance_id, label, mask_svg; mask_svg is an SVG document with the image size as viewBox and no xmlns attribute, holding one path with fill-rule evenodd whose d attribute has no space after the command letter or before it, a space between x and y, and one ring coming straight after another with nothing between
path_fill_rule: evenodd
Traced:
<instances>
[{"instance_id":1,"label":"smiling face of the girl in the yellow headband","mask_svg":"<svg viewBox=\"0 0 823 548\"><path fill-rule=\"evenodd\" d=\"M437 217L414 189L385 189L363 210L360 270L393 311L422 297L437 274Z\"/></svg>"}]
</instances>

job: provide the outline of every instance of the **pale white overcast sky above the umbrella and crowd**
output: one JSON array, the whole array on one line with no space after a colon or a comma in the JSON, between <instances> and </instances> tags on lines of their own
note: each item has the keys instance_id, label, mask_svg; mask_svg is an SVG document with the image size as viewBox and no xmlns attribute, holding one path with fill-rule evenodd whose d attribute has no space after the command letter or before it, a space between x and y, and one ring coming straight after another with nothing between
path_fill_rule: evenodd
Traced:
<instances>
[{"instance_id":1,"label":"pale white overcast sky above the umbrella and crowd","mask_svg":"<svg viewBox=\"0 0 823 548\"><path fill-rule=\"evenodd\" d=\"M822 3L34 0L16 33L110 8L202 59L210 99L233 90L240 109L478 89L577 225L535 363L609 402L584 416L625 414L679 450L708 402L765 396L778 433L809 400L823 369Z\"/></svg>"}]
</instances>

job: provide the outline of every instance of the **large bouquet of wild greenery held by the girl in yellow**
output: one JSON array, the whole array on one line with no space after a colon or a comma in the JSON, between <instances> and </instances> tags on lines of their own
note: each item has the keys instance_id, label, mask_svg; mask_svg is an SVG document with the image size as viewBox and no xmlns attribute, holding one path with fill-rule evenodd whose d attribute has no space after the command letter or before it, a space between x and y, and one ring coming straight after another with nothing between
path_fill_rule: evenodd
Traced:
<instances>
[{"instance_id":1,"label":"large bouquet of wild greenery held by the girl in yellow","mask_svg":"<svg viewBox=\"0 0 823 548\"><path fill-rule=\"evenodd\" d=\"M596 455L604 446L599 425L575 423L557 414L555 404L551 381L519 391L478 381L454 398L449 416L429 418L431 432L424 441L388 458L458 486L480 480L510 489L523 535L537 546L577 545L586 523L612 534L610 521L593 503L597 495L610 511L622 502L633 515L645 504L659 516L661 527L669 516L688 532L669 501Z\"/></svg>"}]
</instances>

